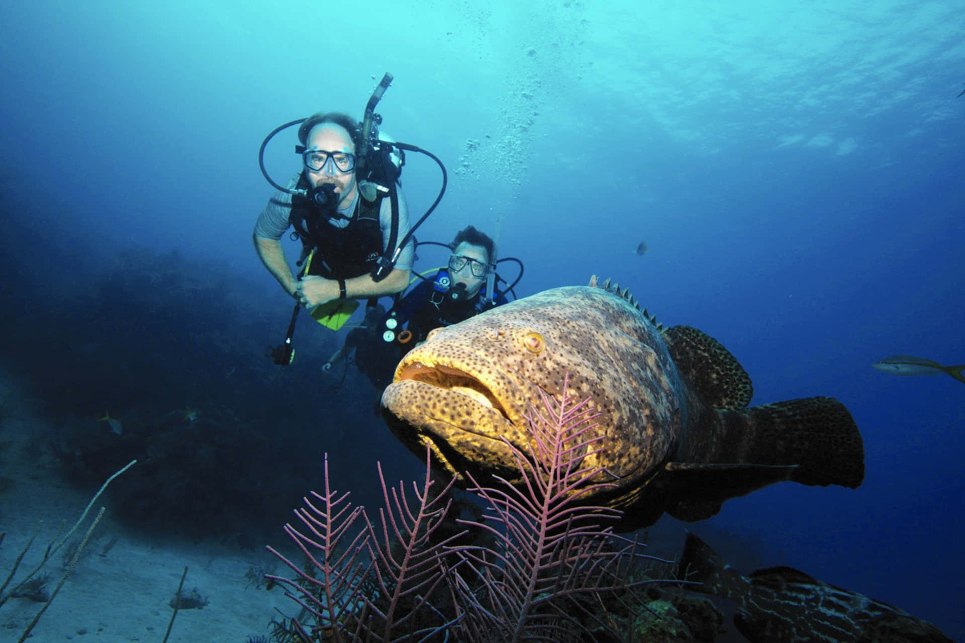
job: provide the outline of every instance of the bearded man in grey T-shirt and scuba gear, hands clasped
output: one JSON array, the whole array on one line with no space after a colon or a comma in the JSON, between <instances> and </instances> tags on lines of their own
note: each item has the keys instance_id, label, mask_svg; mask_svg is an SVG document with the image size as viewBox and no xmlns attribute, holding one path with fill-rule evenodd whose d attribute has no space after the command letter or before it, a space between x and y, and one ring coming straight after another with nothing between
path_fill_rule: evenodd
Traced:
<instances>
[{"instance_id":1,"label":"bearded man in grey T-shirt and scuba gear, hands clasped","mask_svg":"<svg viewBox=\"0 0 965 643\"><path fill-rule=\"evenodd\" d=\"M268 346L265 354L280 366L294 360L291 338L302 307L309 308L318 324L338 331L359 300L368 300L369 308L383 295L395 295L398 301L415 260L413 234L446 193L448 174L439 157L400 143L379 129L382 117L375 107L392 80L389 72L382 76L362 121L341 112L318 112L275 127L262 141L259 166L276 192L255 225L255 249L268 272L298 302L285 340ZM302 170L283 184L268 173L264 152L277 134L293 125L299 125L300 145L294 151ZM428 156L442 173L439 194L414 225L409 224L401 193L405 151ZM297 273L290 268L281 243L289 228L293 228L291 240L298 239L302 245Z\"/></svg>"}]
</instances>

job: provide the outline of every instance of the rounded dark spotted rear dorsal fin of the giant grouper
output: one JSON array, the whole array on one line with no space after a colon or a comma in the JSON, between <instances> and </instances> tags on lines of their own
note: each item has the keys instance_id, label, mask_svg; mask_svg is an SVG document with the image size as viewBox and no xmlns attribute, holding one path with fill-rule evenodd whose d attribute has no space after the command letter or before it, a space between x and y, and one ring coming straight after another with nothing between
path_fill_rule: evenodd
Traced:
<instances>
[{"instance_id":1,"label":"rounded dark spotted rear dorsal fin of the giant grouper","mask_svg":"<svg viewBox=\"0 0 965 643\"><path fill-rule=\"evenodd\" d=\"M684 380L715 409L745 409L754 385L744 367L721 342L690 326L663 332L670 356Z\"/></svg>"}]
</instances>

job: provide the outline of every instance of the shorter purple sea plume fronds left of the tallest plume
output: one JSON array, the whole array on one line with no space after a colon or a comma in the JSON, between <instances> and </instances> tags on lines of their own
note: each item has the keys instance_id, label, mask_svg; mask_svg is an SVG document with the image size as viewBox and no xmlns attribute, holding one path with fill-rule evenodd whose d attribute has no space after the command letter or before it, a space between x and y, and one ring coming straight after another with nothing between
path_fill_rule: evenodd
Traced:
<instances>
[{"instance_id":1,"label":"shorter purple sea plume fronds left of the tallest plume","mask_svg":"<svg viewBox=\"0 0 965 643\"><path fill-rule=\"evenodd\" d=\"M345 500L348 494L331 491L326 455L325 493L312 494L318 506L304 498L306 508L295 511L308 533L285 525L305 555L305 569L267 548L297 575L266 576L285 585L286 595L303 608L299 617L282 624L286 633L305 643L418 641L454 625L457 617L447 617L430 599L451 594L440 588L446 580L442 557L460 549L450 544L465 532L436 537L450 510L454 481L432 494L431 487L438 483L432 480L429 465L427 452L424 484L420 488L412 483L416 502L410 502L401 483L388 487L378 466L384 506L376 528L364 507L352 508ZM301 622L306 615L314 622L308 628Z\"/></svg>"}]
</instances>

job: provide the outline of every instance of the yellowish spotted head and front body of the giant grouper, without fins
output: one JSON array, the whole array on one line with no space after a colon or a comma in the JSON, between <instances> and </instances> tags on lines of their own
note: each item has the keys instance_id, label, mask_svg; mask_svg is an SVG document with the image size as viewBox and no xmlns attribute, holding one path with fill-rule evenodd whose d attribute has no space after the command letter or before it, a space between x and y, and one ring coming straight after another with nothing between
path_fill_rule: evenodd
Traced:
<instances>
[{"instance_id":1,"label":"yellowish spotted head and front body of the giant grouper, without fins","mask_svg":"<svg viewBox=\"0 0 965 643\"><path fill-rule=\"evenodd\" d=\"M538 352L525 345L536 335L543 342ZM452 378L447 387L484 387L492 407L466 390L435 386L436 371L440 381ZM408 420L393 423L402 442L425 449L430 440L444 462L459 463L453 472L496 468L511 476L516 468L500 437L525 452L527 406L538 400L537 388L562 398L566 373L569 395L593 399L601 414L597 430L608 438L584 466L603 466L610 480L640 484L676 438L687 413L685 388L653 324L598 289L549 290L433 331L400 362L382 404Z\"/></svg>"}]
</instances>

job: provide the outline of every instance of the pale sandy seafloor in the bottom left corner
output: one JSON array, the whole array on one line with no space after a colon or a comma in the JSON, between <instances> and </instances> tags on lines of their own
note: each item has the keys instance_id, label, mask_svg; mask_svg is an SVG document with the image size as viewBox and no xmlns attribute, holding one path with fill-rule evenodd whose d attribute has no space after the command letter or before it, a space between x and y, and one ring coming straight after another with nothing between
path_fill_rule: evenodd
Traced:
<instances>
[{"instance_id":1,"label":"pale sandy seafloor in the bottom left corner","mask_svg":"<svg viewBox=\"0 0 965 643\"><path fill-rule=\"evenodd\" d=\"M24 405L0 425L0 476L14 480L13 486L0 490L0 532L7 533L0 546L0 582L10 573L35 524L42 521L12 586L41 560L61 522L66 521L69 528L94 495L71 488L61 478L57 461L46 452L32 460L28 457L36 451L31 437L42 432L42 422ZM111 483L123 484L124 475ZM179 610L170 643L244 643L249 636L269 637L269 621L273 616L279 618L276 606L286 614L296 613L297 605L280 588L265 591L249 586L245 575L252 565L267 567L272 562L271 554L263 549L246 551L171 536L151 538L116 522L104 496L78 528L78 535L100 506L107 510L92 535L90 552L77 564L29 640L160 643L171 619L169 603L185 566L182 593L197 588L210 603L201 609ZM114 537L114 547L101 556ZM284 546L286 539L279 525L272 545ZM41 575L50 576L48 590L56 587L63 574L65 549L55 553L41 570ZM279 567L277 571L283 570ZM17 641L41 607L42 603L23 598L0 606L0 642Z\"/></svg>"}]
</instances>

